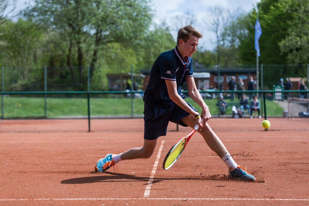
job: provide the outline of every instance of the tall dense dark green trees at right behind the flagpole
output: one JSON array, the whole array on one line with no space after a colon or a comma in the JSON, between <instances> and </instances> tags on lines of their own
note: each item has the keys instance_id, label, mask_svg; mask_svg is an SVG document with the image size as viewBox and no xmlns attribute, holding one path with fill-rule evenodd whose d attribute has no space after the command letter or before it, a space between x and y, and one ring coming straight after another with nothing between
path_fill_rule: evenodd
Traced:
<instances>
[{"instance_id":1,"label":"tall dense dark green trees at right behind the flagpole","mask_svg":"<svg viewBox=\"0 0 309 206\"><path fill-rule=\"evenodd\" d=\"M305 58L308 56L306 42L308 2L263 0L257 4L257 11L263 30L259 39L261 54L259 62L263 63L264 82L269 82L272 86L277 84L280 77L299 76L300 67L287 64L305 63ZM256 10L253 9L239 20L239 24L243 26L239 35L239 54L244 64L256 64L254 48L256 16Z\"/></svg>"}]
</instances>

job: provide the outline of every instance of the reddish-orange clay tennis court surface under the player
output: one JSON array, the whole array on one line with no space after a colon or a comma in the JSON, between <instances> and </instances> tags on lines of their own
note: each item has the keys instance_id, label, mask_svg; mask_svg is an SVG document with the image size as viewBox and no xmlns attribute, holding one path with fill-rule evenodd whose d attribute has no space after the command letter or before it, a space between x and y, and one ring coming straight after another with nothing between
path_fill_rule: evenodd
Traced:
<instances>
[{"instance_id":1,"label":"reddish-orange clay tennis court surface under the player","mask_svg":"<svg viewBox=\"0 0 309 206\"><path fill-rule=\"evenodd\" d=\"M168 150L191 131L175 131L175 124L151 158L95 173L107 153L142 146L142 119L91 120L92 132L87 120L1 120L0 205L308 205L309 122L269 121L269 131L260 119L209 121L235 162L256 177L243 182L227 178L225 164L198 133L163 170Z\"/></svg>"}]
</instances>

